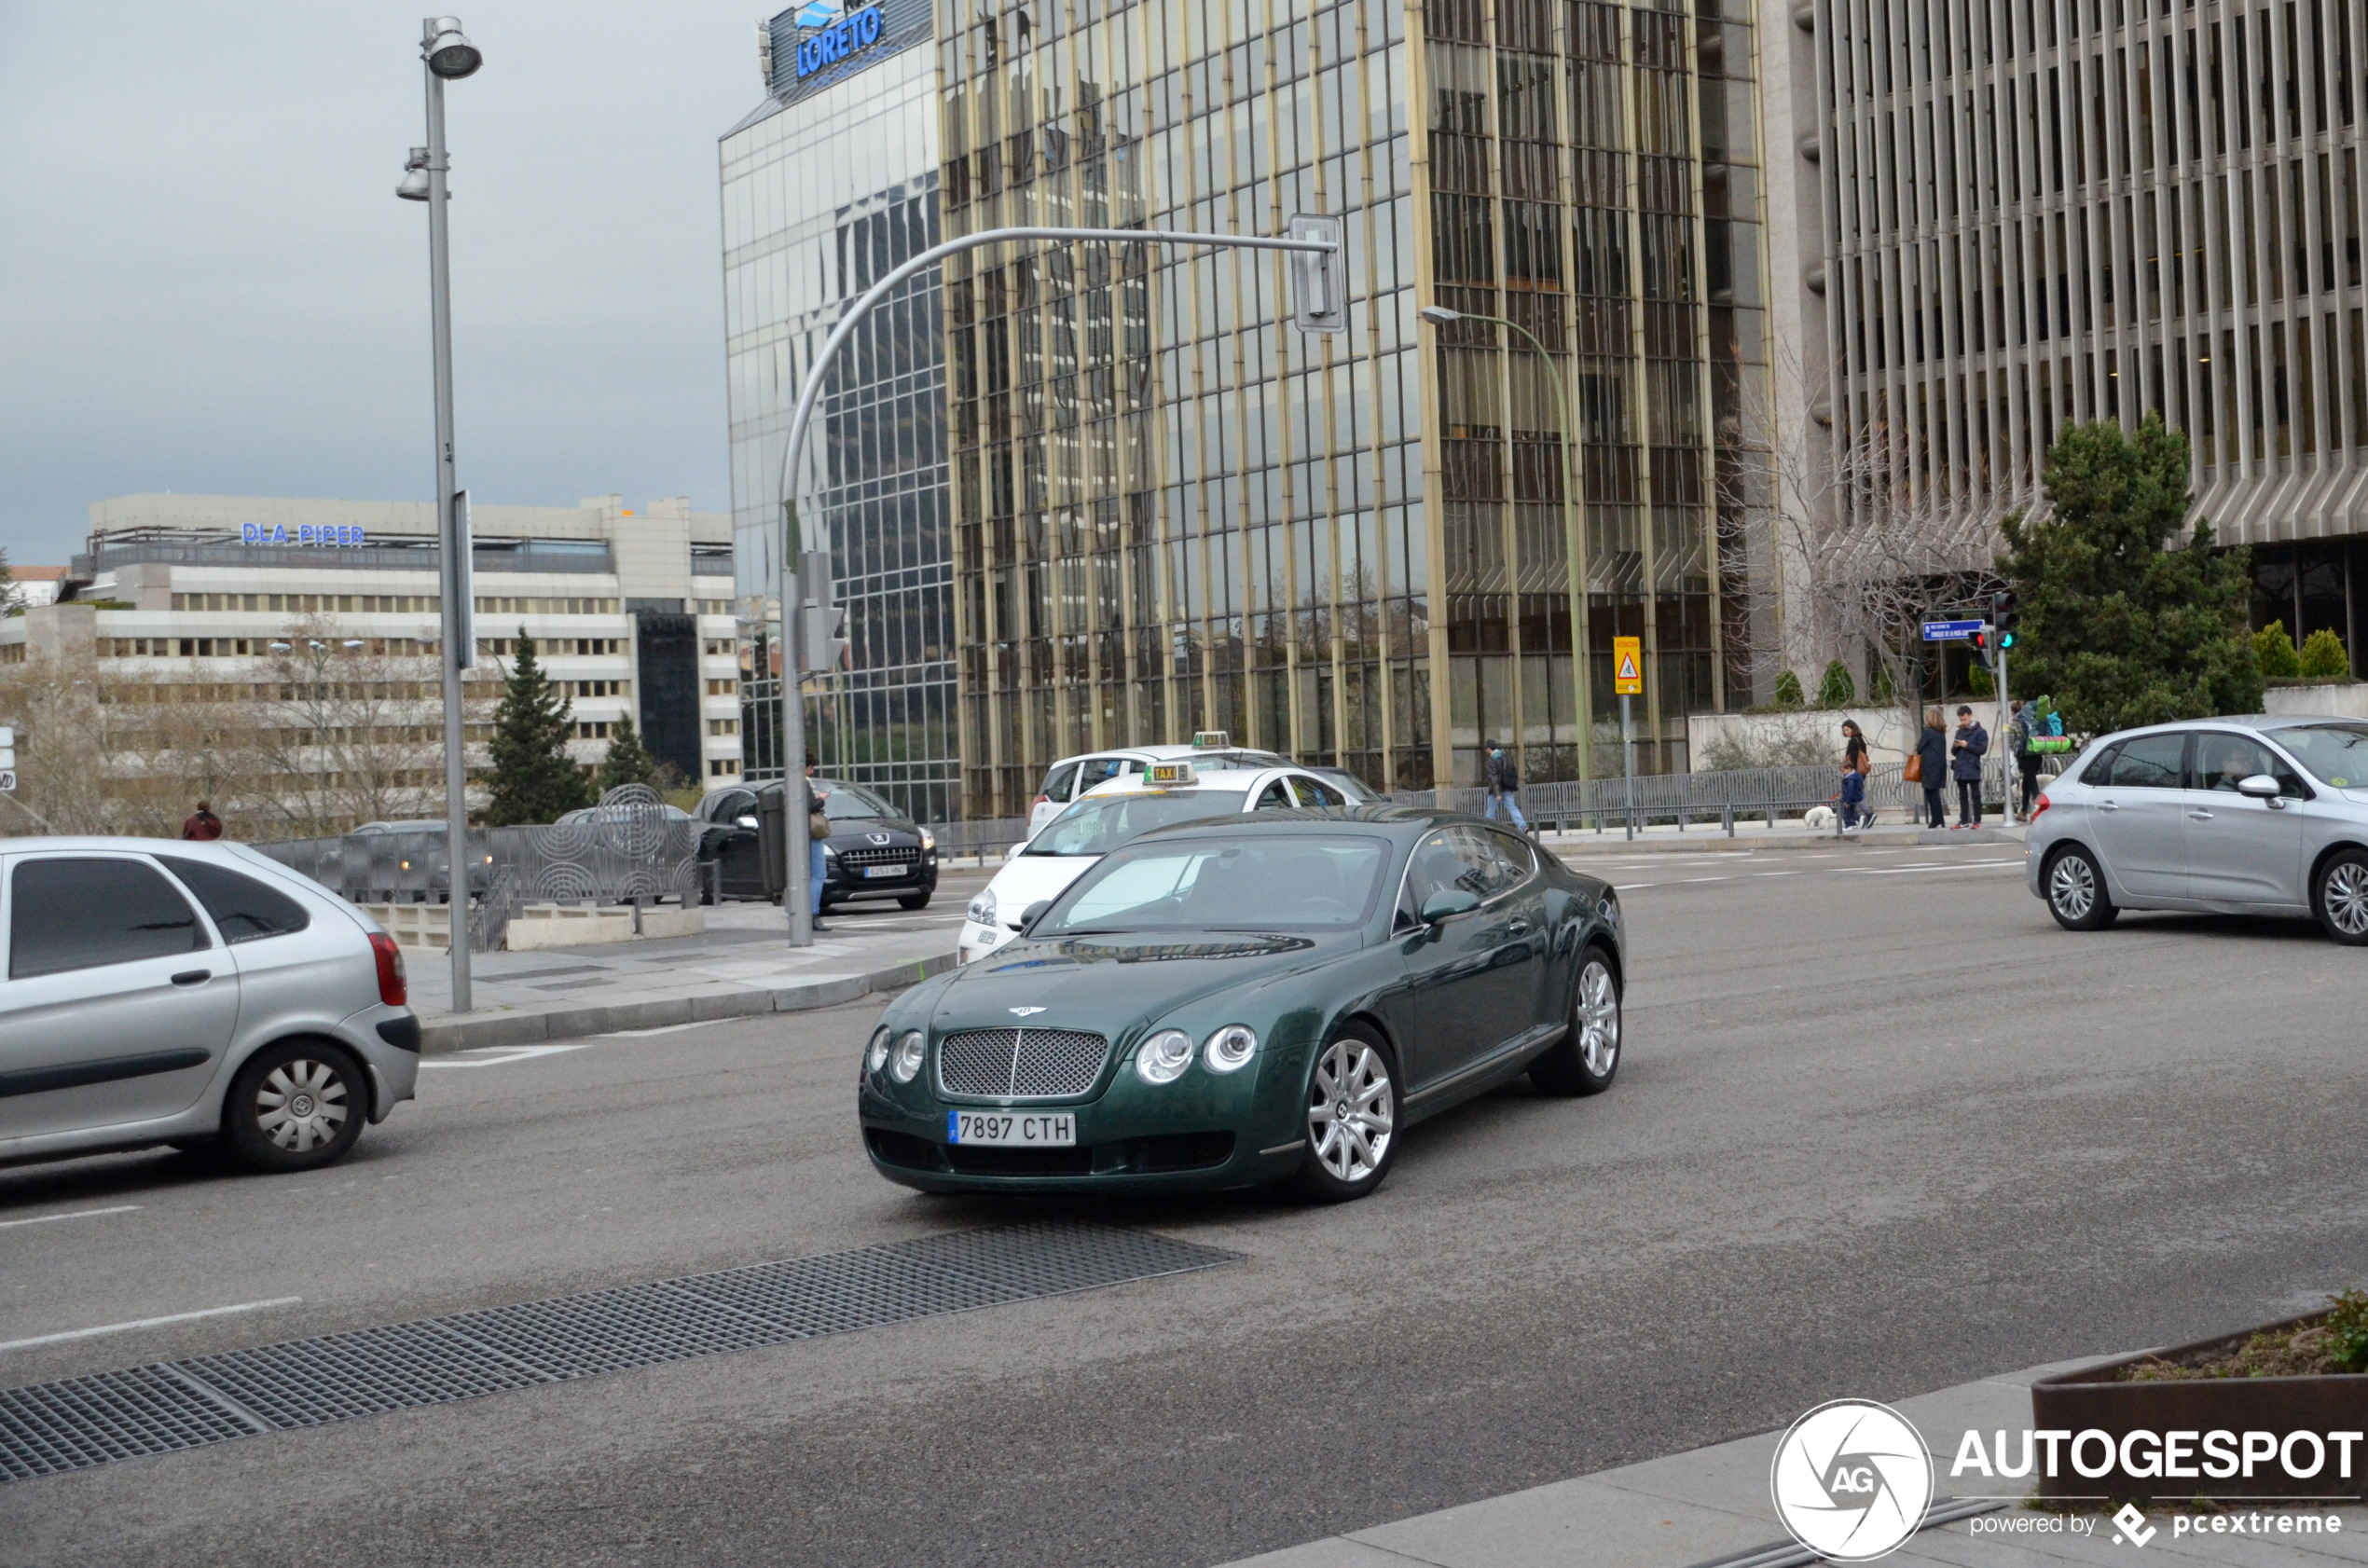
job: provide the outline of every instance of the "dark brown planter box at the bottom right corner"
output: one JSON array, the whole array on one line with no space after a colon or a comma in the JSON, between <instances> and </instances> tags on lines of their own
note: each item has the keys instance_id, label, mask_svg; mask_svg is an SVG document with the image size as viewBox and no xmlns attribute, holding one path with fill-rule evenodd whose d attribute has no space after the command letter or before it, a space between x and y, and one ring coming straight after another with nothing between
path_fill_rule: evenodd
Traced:
<instances>
[{"instance_id":1,"label":"dark brown planter box at the bottom right corner","mask_svg":"<svg viewBox=\"0 0 2368 1568\"><path fill-rule=\"evenodd\" d=\"M2342 1476L2342 1445L2328 1442L2328 1433L2368 1431L2368 1374L2363 1376L2297 1376L2297 1379L2162 1379L2145 1383L2122 1383L2115 1374L2143 1362L2183 1362L2207 1352L2238 1350L2254 1334L2269 1329L2295 1329L2316 1322L2321 1312L2306 1312L2278 1324L2261 1324L2242 1334L2174 1345L2148 1355L2122 1357L2103 1367L2081 1367L2053 1379L2032 1383L2032 1428L2072 1433L2058 1447L2055 1476L2044 1464L2034 1464L2034 1485L2046 1499L2162 1499L2181 1502L2190 1497L2323 1497L2359 1502L2368 1495L2368 1438L2349 1445L2351 1476ZM2084 1433L2105 1433L2112 1440L2112 1469L2103 1476L2081 1476L2072 1464L2072 1447ZM2155 1442L2124 1442L2129 1433L2153 1433ZM2183 1464L2195 1476L2148 1476L2136 1471L2160 1469L2160 1440L2164 1433L2186 1438ZM2269 1433L2280 1450L2287 1433L2316 1433L2323 1445L2323 1461L2316 1476L2290 1476L2276 1457L2254 1459L2252 1476L2245 1464L2233 1476L2205 1476L2205 1464L2226 1464L2216 1454L2202 1452L2207 1435L2228 1433L2238 1454L2245 1450L2245 1433ZM2254 1440L2257 1445L2261 1438ZM2257 1450L2259 1452L2259 1450ZM2309 1442L2297 1445L2297 1464L2311 1454ZM2081 1445L2081 1459L2103 1461L2103 1445L2091 1438Z\"/></svg>"}]
</instances>

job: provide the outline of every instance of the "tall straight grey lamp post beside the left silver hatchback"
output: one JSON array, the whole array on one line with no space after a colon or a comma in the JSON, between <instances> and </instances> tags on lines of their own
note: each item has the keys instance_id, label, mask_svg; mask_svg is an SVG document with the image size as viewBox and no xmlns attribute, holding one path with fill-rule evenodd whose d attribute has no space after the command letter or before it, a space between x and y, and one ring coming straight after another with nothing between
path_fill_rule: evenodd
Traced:
<instances>
[{"instance_id":1,"label":"tall straight grey lamp post beside the left silver hatchback","mask_svg":"<svg viewBox=\"0 0 2368 1568\"><path fill-rule=\"evenodd\" d=\"M474 663L469 628L469 523L452 471L452 253L445 230L445 173L452 168L443 140L443 85L476 76L485 57L459 31L459 17L426 17L419 24L419 59L429 81L429 144L412 147L395 194L429 204L429 315L436 339L436 531L443 587L443 699L445 699L445 829L450 850L448 933L452 950L452 1011L469 997L469 756L462 725L462 670Z\"/></svg>"}]
</instances>

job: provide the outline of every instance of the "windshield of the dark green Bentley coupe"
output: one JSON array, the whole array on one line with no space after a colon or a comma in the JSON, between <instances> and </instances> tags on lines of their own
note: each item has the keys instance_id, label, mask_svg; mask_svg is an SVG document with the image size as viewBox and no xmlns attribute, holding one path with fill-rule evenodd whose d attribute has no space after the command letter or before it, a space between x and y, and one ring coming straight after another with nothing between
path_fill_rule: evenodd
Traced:
<instances>
[{"instance_id":1,"label":"windshield of the dark green Bentley coupe","mask_svg":"<svg viewBox=\"0 0 2368 1568\"><path fill-rule=\"evenodd\" d=\"M1347 931L1373 912L1385 838L1255 834L1134 843L1106 857L1028 936L1099 931Z\"/></svg>"}]
</instances>

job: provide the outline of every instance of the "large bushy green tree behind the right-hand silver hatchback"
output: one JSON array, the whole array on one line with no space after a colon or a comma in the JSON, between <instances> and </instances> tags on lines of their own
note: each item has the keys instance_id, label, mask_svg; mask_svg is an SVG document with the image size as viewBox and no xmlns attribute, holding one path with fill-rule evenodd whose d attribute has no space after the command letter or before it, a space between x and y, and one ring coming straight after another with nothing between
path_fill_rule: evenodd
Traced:
<instances>
[{"instance_id":1,"label":"large bushy green tree behind the right-hand silver hatchback","mask_svg":"<svg viewBox=\"0 0 2368 1568\"><path fill-rule=\"evenodd\" d=\"M2022 602L2015 687L2048 692L2081 734L2259 713L2250 552L2214 550L2202 521L2179 538L2195 500L2188 438L2160 415L2136 436L2072 424L2039 483L2053 512L2003 521L2001 568Z\"/></svg>"}]
</instances>

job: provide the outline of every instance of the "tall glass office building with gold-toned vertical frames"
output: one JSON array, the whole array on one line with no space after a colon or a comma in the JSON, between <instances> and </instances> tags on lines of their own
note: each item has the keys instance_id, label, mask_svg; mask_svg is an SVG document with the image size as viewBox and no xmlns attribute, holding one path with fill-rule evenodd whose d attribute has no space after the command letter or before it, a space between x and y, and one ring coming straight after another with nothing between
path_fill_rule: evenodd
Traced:
<instances>
[{"instance_id":1,"label":"tall glass office building with gold-toned vertical frames","mask_svg":"<svg viewBox=\"0 0 2368 1568\"><path fill-rule=\"evenodd\" d=\"M1310 336L1272 253L947 263L971 810L1193 730L1390 789L1485 739L1617 770L1615 635L1641 765L1684 767L1684 715L1752 696L1755 57L1722 0L940 0L947 234L1336 213L1352 296Z\"/></svg>"}]
</instances>

